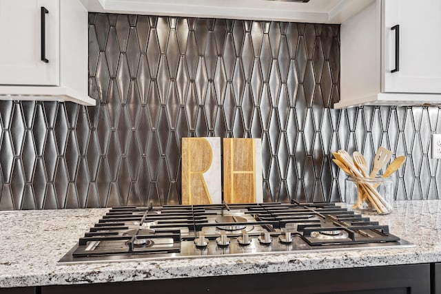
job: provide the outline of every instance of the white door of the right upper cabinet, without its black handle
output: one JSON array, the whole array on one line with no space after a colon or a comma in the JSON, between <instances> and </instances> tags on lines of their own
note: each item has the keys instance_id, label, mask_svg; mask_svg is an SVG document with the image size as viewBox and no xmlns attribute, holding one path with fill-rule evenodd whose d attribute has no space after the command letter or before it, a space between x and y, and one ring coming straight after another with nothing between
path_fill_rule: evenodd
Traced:
<instances>
[{"instance_id":1,"label":"white door of the right upper cabinet, without its black handle","mask_svg":"<svg viewBox=\"0 0 441 294\"><path fill-rule=\"evenodd\" d=\"M382 23L382 92L441 93L441 1L382 1Z\"/></svg>"}]
</instances>

